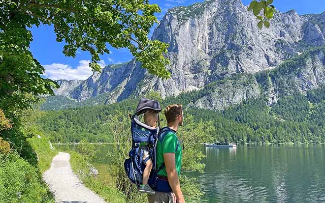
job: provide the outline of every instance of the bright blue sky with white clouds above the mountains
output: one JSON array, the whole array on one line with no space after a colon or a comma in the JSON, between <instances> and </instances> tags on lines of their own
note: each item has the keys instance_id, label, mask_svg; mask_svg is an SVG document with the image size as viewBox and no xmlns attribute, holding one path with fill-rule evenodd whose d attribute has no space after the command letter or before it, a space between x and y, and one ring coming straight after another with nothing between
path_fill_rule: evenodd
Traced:
<instances>
[{"instance_id":1,"label":"bright blue sky with white clouds above the mountains","mask_svg":"<svg viewBox=\"0 0 325 203\"><path fill-rule=\"evenodd\" d=\"M150 3L157 3L162 13L157 13L159 20L169 8L182 5L191 5L203 0L149 0ZM251 0L242 0L247 5ZM325 11L325 0L274 0L273 5L277 10L286 12L291 9L296 10L298 14L322 13ZM154 27L152 28L154 30ZM92 75L92 70L88 63L91 56L88 52L78 51L75 58L65 57L63 54L64 42L57 42L53 26L33 27L31 29L33 41L31 43L31 52L46 69L44 76L52 80L58 79L79 79L85 80ZM102 67L108 64L123 63L130 61L132 55L127 49L115 49L107 44L110 54L100 56L98 64Z\"/></svg>"}]
</instances>

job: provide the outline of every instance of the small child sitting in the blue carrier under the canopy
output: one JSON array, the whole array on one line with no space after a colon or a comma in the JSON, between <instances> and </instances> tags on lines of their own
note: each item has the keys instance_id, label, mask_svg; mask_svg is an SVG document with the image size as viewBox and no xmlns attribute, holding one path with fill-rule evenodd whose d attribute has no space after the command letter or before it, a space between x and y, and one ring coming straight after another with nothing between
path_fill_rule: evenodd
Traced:
<instances>
[{"instance_id":1,"label":"small child sitting in the blue carrier under the canopy","mask_svg":"<svg viewBox=\"0 0 325 203\"><path fill-rule=\"evenodd\" d=\"M156 128L158 122L158 114L156 111L147 110L144 113L143 120L146 125ZM144 160L147 157L149 157L149 145L148 143L140 143L140 146L143 151L142 160ZM152 169L152 160L148 159L148 161L146 162L146 168L144 169L142 174L142 185L140 186L139 191L142 193L148 193L149 195L154 195L155 191L152 190L148 185L148 179L149 179L151 169Z\"/></svg>"}]
</instances>

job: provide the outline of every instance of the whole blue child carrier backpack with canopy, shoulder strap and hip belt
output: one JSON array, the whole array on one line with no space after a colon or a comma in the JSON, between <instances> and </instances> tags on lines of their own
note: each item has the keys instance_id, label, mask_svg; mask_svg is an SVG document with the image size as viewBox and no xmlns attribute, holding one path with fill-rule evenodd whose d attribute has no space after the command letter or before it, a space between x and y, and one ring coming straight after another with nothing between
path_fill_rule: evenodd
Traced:
<instances>
[{"instance_id":1,"label":"whole blue child carrier backpack with canopy, shoulder strap and hip belt","mask_svg":"<svg viewBox=\"0 0 325 203\"><path fill-rule=\"evenodd\" d=\"M153 128L139 121L138 116L143 114L146 110L151 109L161 112L160 104L158 101L142 98L138 104L138 107L131 118L131 134L132 134L132 148L129 152L129 158L124 162L124 168L130 181L135 183L139 188L142 184L142 174L146 166L146 162L151 158L153 167L149 175L148 184L149 186L159 192L171 192L172 189L169 186L166 177L158 175L158 172L164 168L164 164L157 168L156 161L156 148L157 142L163 141L164 136L170 131L169 128L165 127L159 130L159 127ZM158 126L160 122L158 119ZM149 147L149 157L142 160L143 151L140 143L147 142ZM179 145L176 147L176 151Z\"/></svg>"}]
</instances>

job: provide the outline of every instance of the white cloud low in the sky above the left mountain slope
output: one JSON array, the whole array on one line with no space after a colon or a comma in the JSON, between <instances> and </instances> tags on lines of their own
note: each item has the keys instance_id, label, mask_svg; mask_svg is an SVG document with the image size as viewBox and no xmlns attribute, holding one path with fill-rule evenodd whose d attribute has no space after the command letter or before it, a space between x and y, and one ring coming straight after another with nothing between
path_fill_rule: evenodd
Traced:
<instances>
[{"instance_id":1,"label":"white cloud low in the sky above the left mountain slope","mask_svg":"<svg viewBox=\"0 0 325 203\"><path fill-rule=\"evenodd\" d=\"M90 60L80 60L79 65L76 68L72 68L70 65L63 63L52 63L49 65L43 65L45 68L44 76L51 80L86 80L93 74L92 69L89 67ZM100 67L105 67L105 61L100 60L98 62Z\"/></svg>"}]
</instances>

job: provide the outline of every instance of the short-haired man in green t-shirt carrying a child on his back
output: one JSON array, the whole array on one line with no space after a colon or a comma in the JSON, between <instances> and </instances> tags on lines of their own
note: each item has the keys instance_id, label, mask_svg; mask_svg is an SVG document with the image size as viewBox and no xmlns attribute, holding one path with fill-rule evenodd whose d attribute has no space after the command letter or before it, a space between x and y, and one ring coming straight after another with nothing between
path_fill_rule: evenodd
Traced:
<instances>
[{"instance_id":1,"label":"short-haired man in green t-shirt carrying a child on his back","mask_svg":"<svg viewBox=\"0 0 325 203\"><path fill-rule=\"evenodd\" d=\"M168 180L172 189L170 193L156 192L155 195L149 195L149 203L185 203L181 186L179 183L179 174L182 165L182 147L177 139L177 130L183 125L182 105L172 104L166 107L164 112L167 120L166 134L162 142L157 143L157 168L165 165L158 175Z\"/></svg>"}]
</instances>

